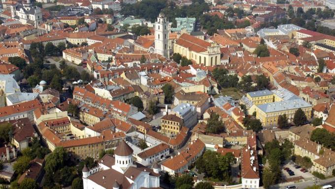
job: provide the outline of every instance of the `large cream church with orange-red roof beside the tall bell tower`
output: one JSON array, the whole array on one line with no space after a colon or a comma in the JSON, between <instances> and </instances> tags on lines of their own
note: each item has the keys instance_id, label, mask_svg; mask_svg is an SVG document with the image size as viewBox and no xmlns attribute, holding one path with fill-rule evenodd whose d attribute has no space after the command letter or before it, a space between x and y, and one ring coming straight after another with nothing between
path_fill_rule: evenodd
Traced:
<instances>
[{"instance_id":1,"label":"large cream church with orange-red roof beside the tall bell tower","mask_svg":"<svg viewBox=\"0 0 335 189\"><path fill-rule=\"evenodd\" d=\"M215 66L220 64L220 45L207 42L188 34L181 35L173 47L174 53L179 53L197 64Z\"/></svg>"}]
</instances>

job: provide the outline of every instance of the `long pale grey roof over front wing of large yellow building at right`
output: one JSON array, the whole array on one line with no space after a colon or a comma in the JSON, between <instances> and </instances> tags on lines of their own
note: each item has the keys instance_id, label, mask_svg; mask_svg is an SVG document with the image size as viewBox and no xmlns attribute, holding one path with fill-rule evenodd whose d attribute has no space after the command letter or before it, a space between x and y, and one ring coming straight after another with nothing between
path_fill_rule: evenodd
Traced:
<instances>
[{"instance_id":1,"label":"long pale grey roof over front wing of large yellow building at right","mask_svg":"<svg viewBox=\"0 0 335 189\"><path fill-rule=\"evenodd\" d=\"M257 107L265 113L271 113L271 112L281 112L287 110L296 110L299 108L308 108L308 107L311 108L312 105L310 105L309 103L300 98L295 100L287 100L287 101L272 102L257 105Z\"/></svg>"}]
</instances>

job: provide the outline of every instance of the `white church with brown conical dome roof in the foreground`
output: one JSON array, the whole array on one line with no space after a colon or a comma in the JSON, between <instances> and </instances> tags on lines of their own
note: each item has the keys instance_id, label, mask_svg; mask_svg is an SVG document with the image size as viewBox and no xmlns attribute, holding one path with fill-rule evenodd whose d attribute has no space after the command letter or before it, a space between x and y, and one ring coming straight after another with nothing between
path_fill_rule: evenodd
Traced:
<instances>
[{"instance_id":1,"label":"white church with brown conical dome roof in the foreground","mask_svg":"<svg viewBox=\"0 0 335 189\"><path fill-rule=\"evenodd\" d=\"M92 169L84 166L84 189L144 189L159 188L159 167L153 169L133 161L133 149L122 141L114 155L106 154Z\"/></svg>"}]
</instances>

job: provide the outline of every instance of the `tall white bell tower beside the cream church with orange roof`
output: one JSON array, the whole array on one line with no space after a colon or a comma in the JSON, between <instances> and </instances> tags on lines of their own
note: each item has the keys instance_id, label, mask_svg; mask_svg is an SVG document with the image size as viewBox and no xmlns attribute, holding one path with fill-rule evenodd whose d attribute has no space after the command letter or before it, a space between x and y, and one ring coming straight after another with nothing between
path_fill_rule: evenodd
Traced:
<instances>
[{"instance_id":1,"label":"tall white bell tower beside the cream church with orange roof","mask_svg":"<svg viewBox=\"0 0 335 189\"><path fill-rule=\"evenodd\" d=\"M155 22L155 52L167 58L169 57L168 34L167 18L163 13L160 13Z\"/></svg>"}]
</instances>

